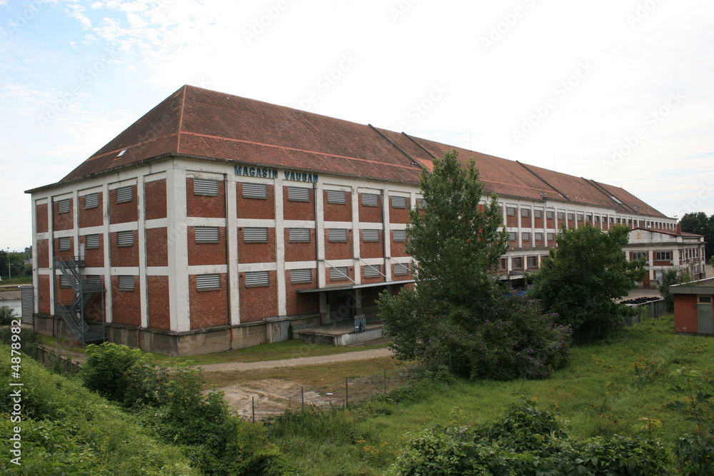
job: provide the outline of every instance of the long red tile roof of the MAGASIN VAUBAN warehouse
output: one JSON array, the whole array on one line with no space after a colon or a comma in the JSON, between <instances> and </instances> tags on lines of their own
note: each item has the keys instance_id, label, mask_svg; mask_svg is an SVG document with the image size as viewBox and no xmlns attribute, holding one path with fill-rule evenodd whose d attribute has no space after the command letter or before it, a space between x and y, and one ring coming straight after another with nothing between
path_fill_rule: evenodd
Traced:
<instances>
[{"instance_id":1,"label":"long red tile roof of the MAGASIN VAUBAN warehouse","mask_svg":"<svg viewBox=\"0 0 714 476\"><path fill-rule=\"evenodd\" d=\"M453 146L298 109L183 86L71 171L61 183L166 156L418 184ZM456 148L486 192L663 214L622 188ZM613 199L616 198L617 200Z\"/></svg>"}]
</instances>

